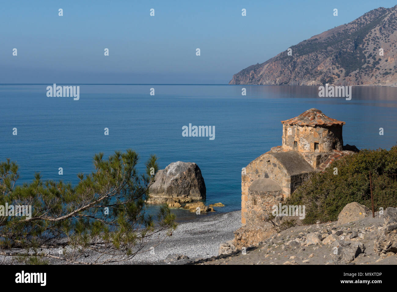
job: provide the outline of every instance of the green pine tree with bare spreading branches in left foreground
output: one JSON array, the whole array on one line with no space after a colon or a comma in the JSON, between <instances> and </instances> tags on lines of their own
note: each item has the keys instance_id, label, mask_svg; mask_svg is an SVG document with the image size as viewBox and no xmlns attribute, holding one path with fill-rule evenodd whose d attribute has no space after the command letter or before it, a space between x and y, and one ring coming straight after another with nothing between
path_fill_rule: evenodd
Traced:
<instances>
[{"instance_id":1,"label":"green pine tree with bare spreading branches in left foreground","mask_svg":"<svg viewBox=\"0 0 397 292\"><path fill-rule=\"evenodd\" d=\"M107 160L96 154L94 172L77 174L76 186L44 182L39 173L33 182L18 185L18 166L10 159L0 162L0 206L31 206L30 215L0 216L0 255L25 263L104 264L155 248L175 229L175 215L161 207L155 224L147 214L150 173L158 165L152 155L146 174L139 174L138 160L131 149ZM88 254L91 261L85 261Z\"/></svg>"}]
</instances>

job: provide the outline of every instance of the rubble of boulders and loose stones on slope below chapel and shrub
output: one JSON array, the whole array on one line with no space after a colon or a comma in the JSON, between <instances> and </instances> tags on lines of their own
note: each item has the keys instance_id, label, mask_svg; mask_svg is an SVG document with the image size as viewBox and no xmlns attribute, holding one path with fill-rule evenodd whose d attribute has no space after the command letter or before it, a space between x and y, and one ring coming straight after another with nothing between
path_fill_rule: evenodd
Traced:
<instances>
[{"instance_id":1,"label":"rubble of boulders and loose stones on slope below chapel and shrub","mask_svg":"<svg viewBox=\"0 0 397 292\"><path fill-rule=\"evenodd\" d=\"M379 223L380 216L384 218L383 226ZM240 254L244 248L259 248L266 253L263 258L273 260L270 264L291 254L288 261L278 262L285 265L310 263L313 259L322 264L349 264L357 257L374 261L367 255L373 253L368 251L368 246L372 249L372 245L374 255L380 256L376 262L397 255L397 209L389 207L384 214L377 212L376 224L368 220L371 218L372 212L368 208L353 202L343 208L337 222L293 226L279 231L268 221L261 227L237 230L233 240L220 244L219 255ZM310 255L307 254L309 249L313 251Z\"/></svg>"}]
</instances>

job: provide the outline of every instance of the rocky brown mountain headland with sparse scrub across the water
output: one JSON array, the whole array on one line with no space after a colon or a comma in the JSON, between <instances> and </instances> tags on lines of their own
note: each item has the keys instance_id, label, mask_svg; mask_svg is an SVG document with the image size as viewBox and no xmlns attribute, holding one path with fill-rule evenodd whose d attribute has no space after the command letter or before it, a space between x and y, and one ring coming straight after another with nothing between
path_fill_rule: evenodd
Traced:
<instances>
[{"instance_id":1,"label":"rocky brown mountain headland with sparse scrub across the water","mask_svg":"<svg viewBox=\"0 0 397 292\"><path fill-rule=\"evenodd\" d=\"M397 85L396 44L397 5L381 7L241 70L229 84Z\"/></svg>"}]
</instances>

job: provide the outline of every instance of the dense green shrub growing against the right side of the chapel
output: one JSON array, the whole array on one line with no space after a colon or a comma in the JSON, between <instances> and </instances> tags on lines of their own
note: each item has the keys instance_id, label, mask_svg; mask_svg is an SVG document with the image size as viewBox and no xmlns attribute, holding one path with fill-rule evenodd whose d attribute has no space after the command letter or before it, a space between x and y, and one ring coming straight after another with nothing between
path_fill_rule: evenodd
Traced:
<instances>
[{"instance_id":1,"label":"dense green shrub growing against the right side of the chapel","mask_svg":"<svg viewBox=\"0 0 397 292\"><path fill-rule=\"evenodd\" d=\"M335 175L334 168L338 174ZM290 198L287 205L305 205L305 224L335 221L343 207L358 202L371 208L369 171L372 173L374 207L397 207L397 145L385 149L364 149L334 161L324 173L312 174Z\"/></svg>"}]
</instances>

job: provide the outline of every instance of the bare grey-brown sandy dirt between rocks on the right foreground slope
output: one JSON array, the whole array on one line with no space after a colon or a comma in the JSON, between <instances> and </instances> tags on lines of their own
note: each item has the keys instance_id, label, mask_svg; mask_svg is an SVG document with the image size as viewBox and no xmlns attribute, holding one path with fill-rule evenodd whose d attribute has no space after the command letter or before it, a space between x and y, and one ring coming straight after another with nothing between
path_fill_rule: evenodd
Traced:
<instances>
[{"instance_id":1,"label":"bare grey-brown sandy dirt between rocks on the right foreground slope","mask_svg":"<svg viewBox=\"0 0 397 292\"><path fill-rule=\"evenodd\" d=\"M375 226L375 229L383 226L384 220L380 218L367 217L360 221L343 224L346 228L359 228L364 230L366 227ZM244 255L241 251L228 256L214 257L207 260L200 260L197 264L209 265L282 265L285 262L295 261L298 265L328 265L338 264L333 261L331 244L320 244L310 246L288 246L285 244L291 239L297 238L300 232L316 232L321 228L339 229L335 222L323 224L295 226L276 234L274 239L269 238L264 244L257 248L247 248ZM378 232L366 232L364 238L358 242L365 245L364 253L358 255L349 265L396 265L397 255L385 258L380 257L374 252L374 239ZM270 241L271 240L271 241Z\"/></svg>"}]
</instances>

